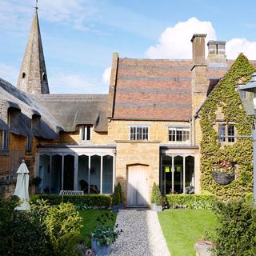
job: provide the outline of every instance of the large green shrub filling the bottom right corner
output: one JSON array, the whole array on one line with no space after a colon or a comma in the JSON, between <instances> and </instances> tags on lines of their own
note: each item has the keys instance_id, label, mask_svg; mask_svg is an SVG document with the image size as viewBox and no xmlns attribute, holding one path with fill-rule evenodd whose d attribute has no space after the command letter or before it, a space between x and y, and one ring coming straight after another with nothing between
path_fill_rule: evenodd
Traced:
<instances>
[{"instance_id":1,"label":"large green shrub filling the bottom right corner","mask_svg":"<svg viewBox=\"0 0 256 256\"><path fill-rule=\"evenodd\" d=\"M249 204L218 202L215 209L218 224L212 242L216 256L256 255L256 210Z\"/></svg>"}]
</instances>

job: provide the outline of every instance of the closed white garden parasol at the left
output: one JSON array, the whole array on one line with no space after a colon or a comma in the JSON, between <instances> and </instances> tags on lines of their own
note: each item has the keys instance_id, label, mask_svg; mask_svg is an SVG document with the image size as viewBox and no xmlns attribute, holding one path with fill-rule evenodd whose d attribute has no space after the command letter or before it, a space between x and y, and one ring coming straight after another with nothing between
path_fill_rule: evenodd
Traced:
<instances>
[{"instance_id":1,"label":"closed white garden parasol at the left","mask_svg":"<svg viewBox=\"0 0 256 256\"><path fill-rule=\"evenodd\" d=\"M22 204L17 206L16 210L28 210L30 208L30 203L28 202L30 200L29 196L29 170L26 167L26 163L24 160L22 160L21 165L18 167L17 170L17 182L16 187L14 191L14 195L17 195L21 200Z\"/></svg>"}]
</instances>

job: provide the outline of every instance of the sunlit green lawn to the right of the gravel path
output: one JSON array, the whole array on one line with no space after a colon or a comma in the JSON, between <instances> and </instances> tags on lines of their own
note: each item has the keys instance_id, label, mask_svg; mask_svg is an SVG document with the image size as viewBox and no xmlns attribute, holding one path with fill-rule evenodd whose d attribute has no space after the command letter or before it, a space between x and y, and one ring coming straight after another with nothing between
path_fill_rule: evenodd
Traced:
<instances>
[{"instance_id":1,"label":"sunlit green lawn to the right of the gravel path","mask_svg":"<svg viewBox=\"0 0 256 256\"><path fill-rule=\"evenodd\" d=\"M170 254L175 256L194 256L194 243L217 222L210 210L165 210L158 218Z\"/></svg>"}]
</instances>

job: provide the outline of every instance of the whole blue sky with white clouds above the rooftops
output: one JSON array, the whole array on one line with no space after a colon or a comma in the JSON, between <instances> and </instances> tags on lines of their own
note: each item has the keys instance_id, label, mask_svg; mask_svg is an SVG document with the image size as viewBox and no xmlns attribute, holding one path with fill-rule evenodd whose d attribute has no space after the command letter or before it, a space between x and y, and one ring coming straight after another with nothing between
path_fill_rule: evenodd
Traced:
<instances>
[{"instance_id":1,"label":"whole blue sky with white clouds above the rooftops","mask_svg":"<svg viewBox=\"0 0 256 256\"><path fill-rule=\"evenodd\" d=\"M14 85L34 5L0 0L0 77ZM191 58L194 33L226 41L228 58L244 52L256 59L253 0L38 0L38 8L52 93L107 93L114 52L129 58Z\"/></svg>"}]
</instances>

